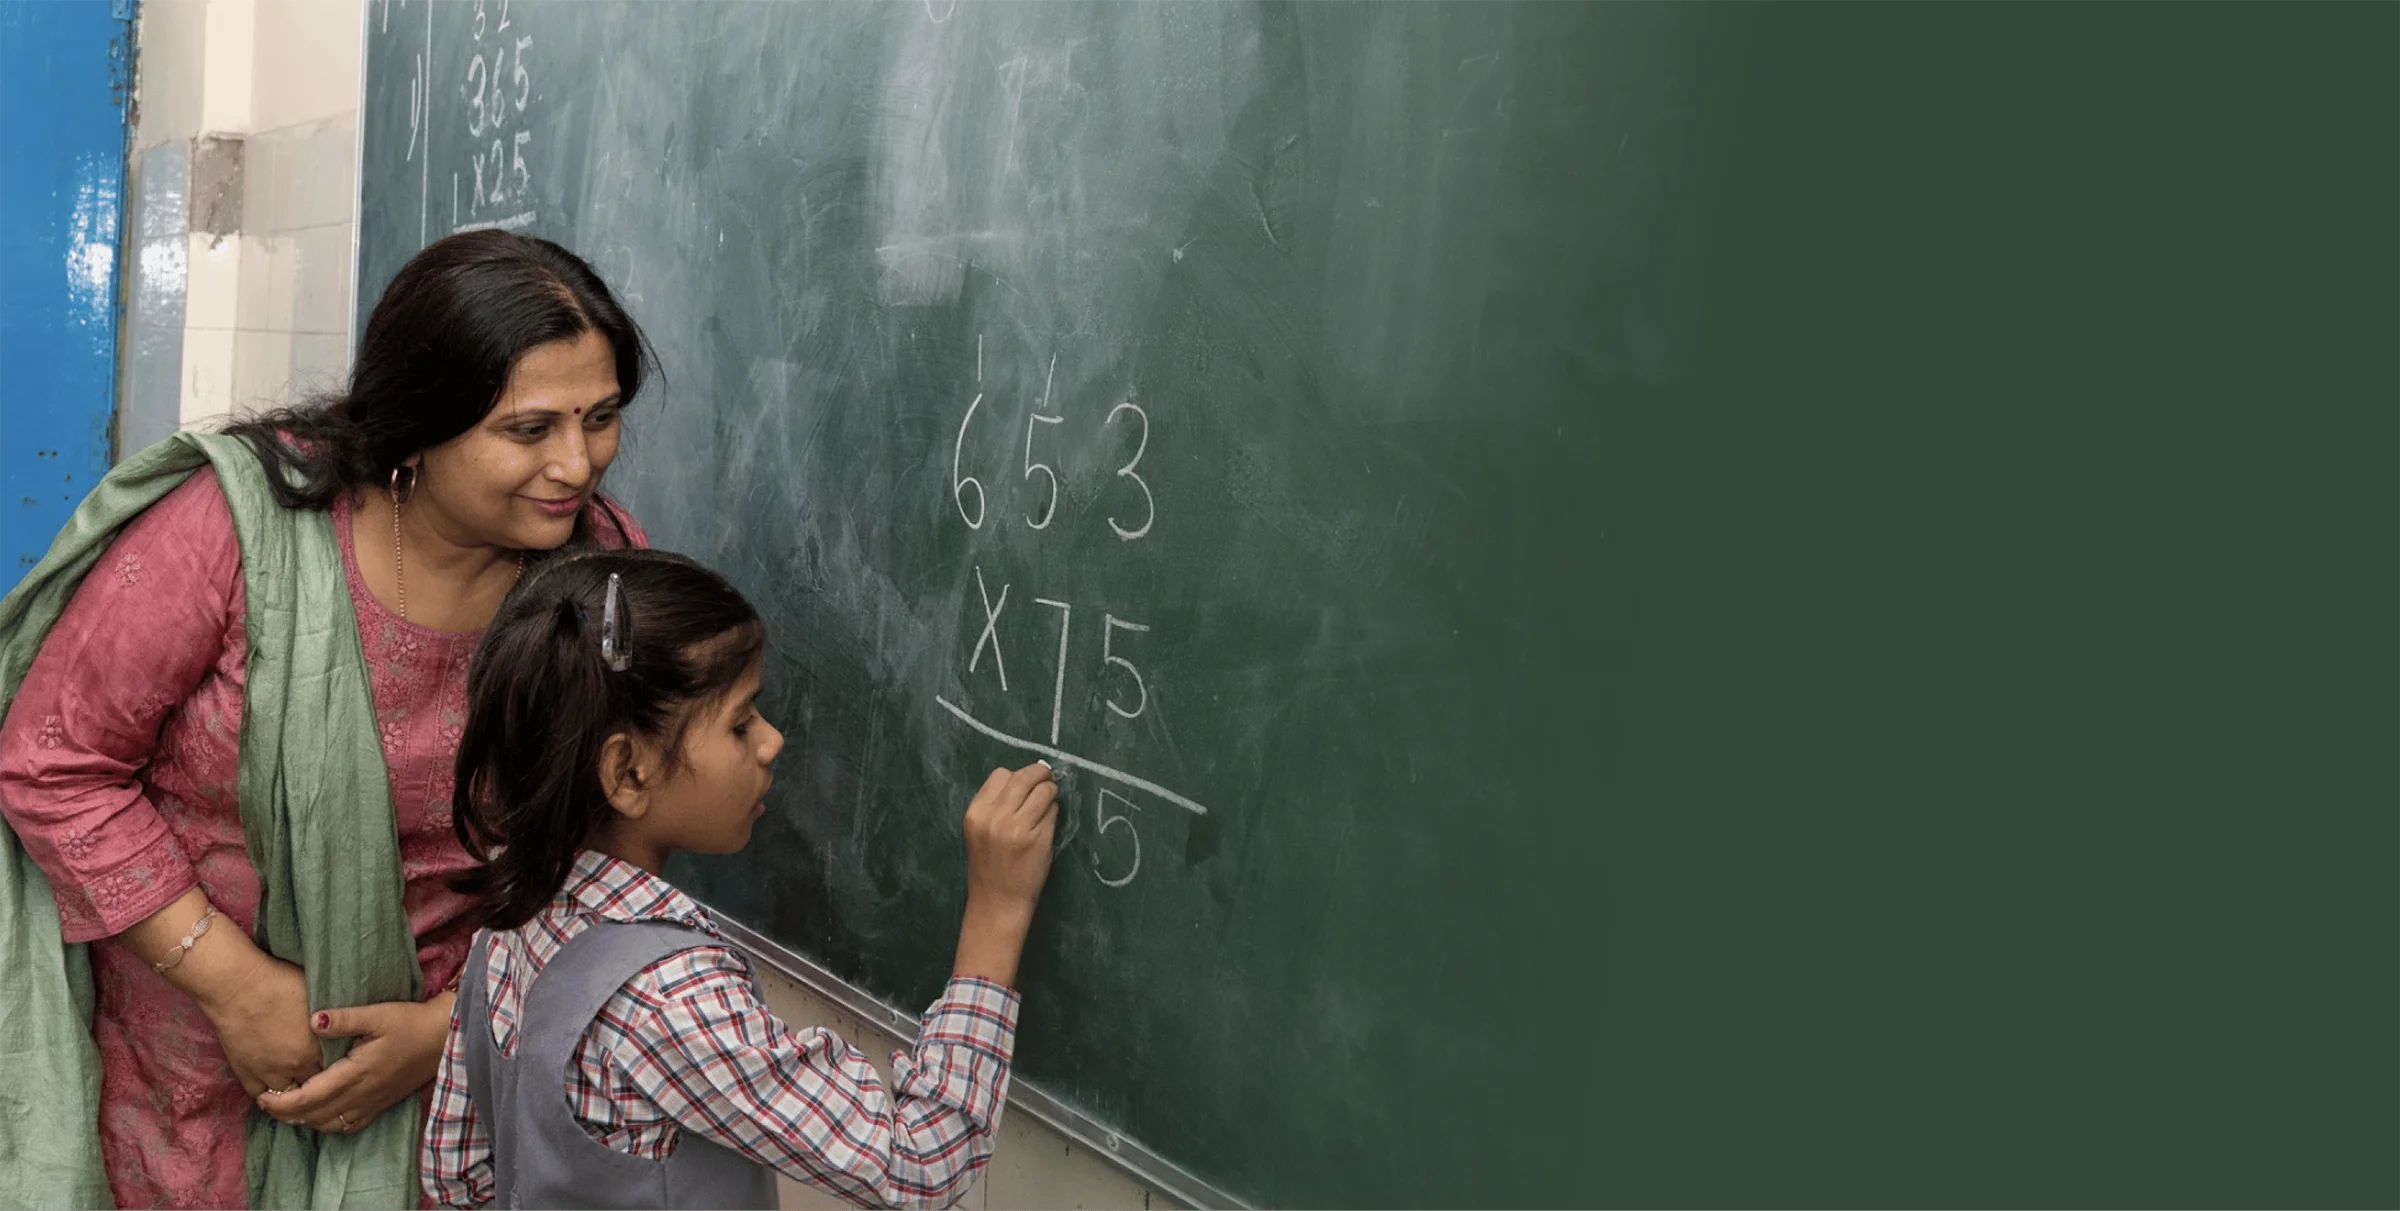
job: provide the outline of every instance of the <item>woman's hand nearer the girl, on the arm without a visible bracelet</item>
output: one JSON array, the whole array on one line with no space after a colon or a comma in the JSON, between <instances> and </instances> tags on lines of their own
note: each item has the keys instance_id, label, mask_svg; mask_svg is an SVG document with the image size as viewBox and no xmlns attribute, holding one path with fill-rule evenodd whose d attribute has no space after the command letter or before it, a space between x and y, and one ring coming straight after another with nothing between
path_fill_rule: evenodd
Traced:
<instances>
[{"instance_id":1,"label":"woman's hand nearer the girl, on the arm without a visible bracelet","mask_svg":"<svg viewBox=\"0 0 2400 1211\"><path fill-rule=\"evenodd\" d=\"M278 1122L350 1134L434 1079L456 995L430 1002L386 1000L324 1010L310 1019L317 1038L355 1038L350 1053L288 1093L259 1096Z\"/></svg>"}]
</instances>

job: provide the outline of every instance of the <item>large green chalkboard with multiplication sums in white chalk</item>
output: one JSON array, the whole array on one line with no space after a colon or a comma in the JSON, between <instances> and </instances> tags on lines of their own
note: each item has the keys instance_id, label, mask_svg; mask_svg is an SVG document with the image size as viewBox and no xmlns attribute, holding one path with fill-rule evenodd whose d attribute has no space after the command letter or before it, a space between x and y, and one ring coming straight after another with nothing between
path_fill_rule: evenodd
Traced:
<instances>
[{"instance_id":1,"label":"large green chalkboard with multiplication sums in white chalk","mask_svg":"<svg viewBox=\"0 0 2400 1211\"><path fill-rule=\"evenodd\" d=\"M598 264L794 739L677 878L922 1005L1075 765L1020 1077L1231 1197L2330 1204L2371 998L2258 923L2376 849L2186 664L2258 429L2160 233L2249 194L2129 165L2342 74L2177 12L374 0L360 300Z\"/></svg>"}]
</instances>

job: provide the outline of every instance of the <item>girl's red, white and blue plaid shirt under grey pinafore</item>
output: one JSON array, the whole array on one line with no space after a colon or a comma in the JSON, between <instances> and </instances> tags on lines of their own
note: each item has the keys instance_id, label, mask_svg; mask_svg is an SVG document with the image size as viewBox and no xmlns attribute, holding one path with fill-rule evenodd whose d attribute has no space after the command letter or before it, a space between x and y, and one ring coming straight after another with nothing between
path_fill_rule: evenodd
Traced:
<instances>
[{"instance_id":1,"label":"girl's red, white and blue plaid shirt under grey pinafore","mask_svg":"<svg viewBox=\"0 0 2400 1211\"><path fill-rule=\"evenodd\" d=\"M516 1014L542 964L593 921L677 921L718 935L665 880L610 856L576 856L540 916L492 935L485 988L492 1041L516 1050ZM463 998L461 998L463 1005ZM475 1120L451 1014L425 1120L425 1192L442 1206L492 1201L492 1139ZM948 1206L991 1158L1008 1091L1018 995L953 978L926 1010L914 1053L893 1053L895 1091L850 1043L794 1031L758 1002L746 959L696 945L624 983L576 1043L566 1103L593 1139L665 1158L698 1132L862 1206Z\"/></svg>"}]
</instances>

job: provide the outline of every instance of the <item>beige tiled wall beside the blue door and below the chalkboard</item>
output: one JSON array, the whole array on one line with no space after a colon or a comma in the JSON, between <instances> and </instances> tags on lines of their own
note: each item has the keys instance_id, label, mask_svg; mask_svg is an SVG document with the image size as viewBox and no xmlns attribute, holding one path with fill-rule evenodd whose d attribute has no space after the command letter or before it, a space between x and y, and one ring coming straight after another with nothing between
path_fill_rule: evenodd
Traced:
<instances>
[{"instance_id":1,"label":"beige tiled wall beside the blue door and below the chalkboard","mask_svg":"<svg viewBox=\"0 0 2400 1211\"><path fill-rule=\"evenodd\" d=\"M348 372L362 14L343 0L142 5L134 192L146 211L132 235L125 398L149 386L166 427L288 403ZM768 974L766 986L785 1022L830 1026L890 1077L893 1034L794 981ZM785 1206L842 1204L785 1182ZM1006 1113L991 1168L960 1206L1169 1204Z\"/></svg>"}]
</instances>

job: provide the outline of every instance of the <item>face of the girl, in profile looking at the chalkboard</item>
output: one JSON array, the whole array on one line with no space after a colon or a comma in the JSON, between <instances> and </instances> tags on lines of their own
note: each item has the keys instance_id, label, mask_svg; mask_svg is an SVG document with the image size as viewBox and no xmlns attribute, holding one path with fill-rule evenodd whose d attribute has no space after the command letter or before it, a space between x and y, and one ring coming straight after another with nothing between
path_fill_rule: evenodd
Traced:
<instances>
[{"instance_id":1,"label":"face of the girl, in profile looking at the chalkboard","mask_svg":"<svg viewBox=\"0 0 2400 1211\"><path fill-rule=\"evenodd\" d=\"M754 662L722 703L686 722L682 760L646 813L660 856L672 849L734 854L749 844L775 784L775 753L782 753L782 731L758 715L758 679Z\"/></svg>"}]
</instances>

